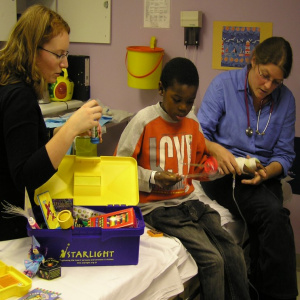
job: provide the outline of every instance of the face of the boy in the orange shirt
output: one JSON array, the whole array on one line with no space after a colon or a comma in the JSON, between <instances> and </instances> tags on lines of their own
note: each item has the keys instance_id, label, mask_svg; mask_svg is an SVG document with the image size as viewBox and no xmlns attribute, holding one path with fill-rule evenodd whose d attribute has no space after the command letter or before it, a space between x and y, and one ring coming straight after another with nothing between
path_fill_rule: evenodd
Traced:
<instances>
[{"instance_id":1,"label":"face of the boy in the orange shirt","mask_svg":"<svg viewBox=\"0 0 300 300\"><path fill-rule=\"evenodd\" d=\"M192 109L197 90L197 86L180 84L175 81L174 85L169 86L167 90L160 90L163 96L161 105L163 110L172 120L180 121Z\"/></svg>"}]
</instances>

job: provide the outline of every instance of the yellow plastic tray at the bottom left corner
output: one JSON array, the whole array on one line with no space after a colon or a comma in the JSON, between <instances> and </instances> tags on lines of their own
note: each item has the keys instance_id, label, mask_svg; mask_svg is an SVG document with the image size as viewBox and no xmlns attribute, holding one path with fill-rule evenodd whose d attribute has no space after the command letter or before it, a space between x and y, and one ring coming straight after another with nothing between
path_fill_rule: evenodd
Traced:
<instances>
[{"instance_id":1,"label":"yellow plastic tray at the bottom left corner","mask_svg":"<svg viewBox=\"0 0 300 300\"><path fill-rule=\"evenodd\" d=\"M23 296L31 288L32 280L12 266L0 260L0 299Z\"/></svg>"}]
</instances>

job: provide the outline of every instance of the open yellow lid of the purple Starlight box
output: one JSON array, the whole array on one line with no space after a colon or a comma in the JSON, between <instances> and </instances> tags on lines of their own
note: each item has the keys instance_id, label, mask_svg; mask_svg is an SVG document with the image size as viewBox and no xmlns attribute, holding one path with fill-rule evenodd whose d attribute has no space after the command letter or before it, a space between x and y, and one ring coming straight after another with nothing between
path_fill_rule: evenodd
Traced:
<instances>
[{"instance_id":1,"label":"open yellow lid of the purple Starlight box","mask_svg":"<svg viewBox=\"0 0 300 300\"><path fill-rule=\"evenodd\" d=\"M132 157L66 155L58 171L35 190L51 198L73 198L76 206L137 205L137 162Z\"/></svg>"}]
</instances>

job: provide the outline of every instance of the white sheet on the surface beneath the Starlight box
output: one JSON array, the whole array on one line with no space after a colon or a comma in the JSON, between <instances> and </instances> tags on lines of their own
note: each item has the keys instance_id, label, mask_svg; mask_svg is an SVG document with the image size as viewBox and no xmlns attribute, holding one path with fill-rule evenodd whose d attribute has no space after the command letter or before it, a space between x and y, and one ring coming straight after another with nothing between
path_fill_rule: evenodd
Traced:
<instances>
[{"instance_id":1,"label":"white sheet on the surface beneath the Starlight box","mask_svg":"<svg viewBox=\"0 0 300 300\"><path fill-rule=\"evenodd\" d=\"M62 299L167 299L183 291L183 283L197 273L190 254L175 238L140 239L138 265L63 267L62 276L51 281L33 278L32 288L62 293ZM0 242L0 260L24 270L31 238ZM11 299L18 299L13 297Z\"/></svg>"}]
</instances>

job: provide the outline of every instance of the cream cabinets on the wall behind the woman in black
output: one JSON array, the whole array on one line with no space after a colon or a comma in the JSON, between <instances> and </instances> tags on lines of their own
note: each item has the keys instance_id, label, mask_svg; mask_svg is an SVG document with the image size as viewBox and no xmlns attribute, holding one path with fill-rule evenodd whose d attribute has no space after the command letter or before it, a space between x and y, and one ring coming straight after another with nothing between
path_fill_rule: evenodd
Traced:
<instances>
[{"instance_id":1,"label":"cream cabinets on the wall behind the woman in black","mask_svg":"<svg viewBox=\"0 0 300 300\"><path fill-rule=\"evenodd\" d=\"M0 41L6 41L17 15L33 4L57 11L70 25L70 41L105 43L111 40L111 0L1 0Z\"/></svg>"}]
</instances>

